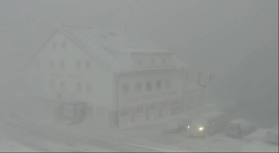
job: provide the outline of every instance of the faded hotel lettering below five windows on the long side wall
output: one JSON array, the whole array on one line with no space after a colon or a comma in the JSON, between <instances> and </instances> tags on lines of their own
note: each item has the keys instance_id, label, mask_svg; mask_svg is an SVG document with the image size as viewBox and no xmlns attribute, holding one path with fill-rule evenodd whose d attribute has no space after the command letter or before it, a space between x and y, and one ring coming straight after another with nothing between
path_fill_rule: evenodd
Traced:
<instances>
[{"instance_id":1,"label":"faded hotel lettering below five windows on the long side wall","mask_svg":"<svg viewBox=\"0 0 279 153\"><path fill-rule=\"evenodd\" d=\"M126 102L127 103L140 102L140 101L146 101L146 100L150 100L150 99L154 99L154 98L165 98L165 97L176 95L176 94L177 94L177 90L164 91L161 93L153 93L153 94L144 94L141 96L127 98Z\"/></svg>"}]
</instances>

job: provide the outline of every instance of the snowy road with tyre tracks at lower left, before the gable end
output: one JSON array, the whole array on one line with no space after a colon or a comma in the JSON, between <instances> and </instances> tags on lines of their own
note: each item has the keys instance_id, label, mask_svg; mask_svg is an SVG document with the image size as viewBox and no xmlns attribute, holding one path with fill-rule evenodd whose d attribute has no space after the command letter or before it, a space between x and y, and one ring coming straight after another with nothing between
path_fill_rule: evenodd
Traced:
<instances>
[{"instance_id":1,"label":"snowy road with tyre tracks at lower left, before the gable end","mask_svg":"<svg viewBox=\"0 0 279 153\"><path fill-rule=\"evenodd\" d=\"M25 149L26 152L159 152L81 134L50 131L22 120L2 120L2 122L4 123L1 126L1 131L4 132L1 136L2 146L12 144L29 148ZM16 147L10 147L10 149L14 151ZM21 149L18 151L25 152Z\"/></svg>"}]
</instances>

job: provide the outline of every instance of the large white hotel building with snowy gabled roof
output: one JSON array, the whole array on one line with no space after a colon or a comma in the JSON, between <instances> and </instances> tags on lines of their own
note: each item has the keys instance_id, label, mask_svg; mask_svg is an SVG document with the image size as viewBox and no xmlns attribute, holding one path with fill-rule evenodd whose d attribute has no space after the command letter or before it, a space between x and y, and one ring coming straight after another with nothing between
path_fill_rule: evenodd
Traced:
<instances>
[{"instance_id":1,"label":"large white hotel building with snowy gabled roof","mask_svg":"<svg viewBox=\"0 0 279 153\"><path fill-rule=\"evenodd\" d=\"M125 28L58 26L24 71L50 102L59 103L57 93L64 102L86 102L86 117L110 126L184 110L187 64L172 51L136 43Z\"/></svg>"}]
</instances>

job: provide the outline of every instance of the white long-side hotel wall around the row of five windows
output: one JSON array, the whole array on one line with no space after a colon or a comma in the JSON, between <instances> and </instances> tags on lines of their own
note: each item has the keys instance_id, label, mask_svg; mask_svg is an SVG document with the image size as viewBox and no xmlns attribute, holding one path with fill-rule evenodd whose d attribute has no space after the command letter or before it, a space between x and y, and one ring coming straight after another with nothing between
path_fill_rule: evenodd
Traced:
<instances>
[{"instance_id":1,"label":"white long-side hotel wall around the row of five windows","mask_svg":"<svg viewBox=\"0 0 279 153\"><path fill-rule=\"evenodd\" d=\"M170 79L170 88L166 88L166 79ZM167 71L147 74L132 74L122 76L118 82L119 108L137 106L138 104L166 101L183 96L183 73L181 71ZM156 81L162 81L162 88L156 89ZM146 82L152 81L152 91L146 91ZM142 82L142 92L135 92L135 83ZM129 93L123 93L122 85L129 83ZM166 96L166 93L171 93ZM163 95L162 95L163 94ZM143 98L144 96L154 95L153 98ZM162 95L162 96L161 96Z\"/></svg>"}]
</instances>

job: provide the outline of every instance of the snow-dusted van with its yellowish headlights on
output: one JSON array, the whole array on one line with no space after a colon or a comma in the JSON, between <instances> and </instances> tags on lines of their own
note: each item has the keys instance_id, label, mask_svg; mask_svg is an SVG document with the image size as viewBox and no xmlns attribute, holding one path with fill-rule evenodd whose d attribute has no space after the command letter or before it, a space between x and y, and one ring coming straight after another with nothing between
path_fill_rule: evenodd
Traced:
<instances>
[{"instance_id":1,"label":"snow-dusted van with its yellowish headlights on","mask_svg":"<svg viewBox=\"0 0 279 153\"><path fill-rule=\"evenodd\" d=\"M223 129L227 123L227 115L222 111L213 111L195 118L188 126L187 134L190 136L208 137Z\"/></svg>"}]
</instances>

